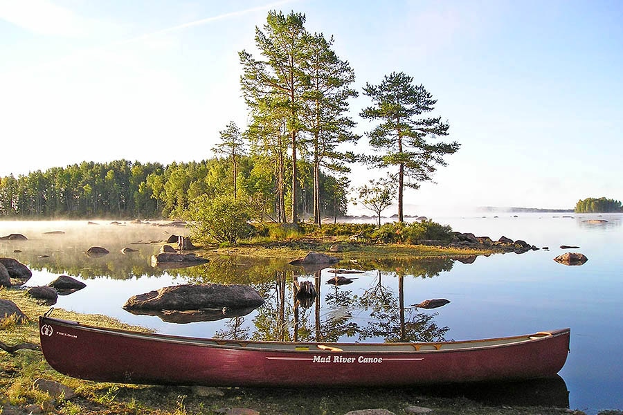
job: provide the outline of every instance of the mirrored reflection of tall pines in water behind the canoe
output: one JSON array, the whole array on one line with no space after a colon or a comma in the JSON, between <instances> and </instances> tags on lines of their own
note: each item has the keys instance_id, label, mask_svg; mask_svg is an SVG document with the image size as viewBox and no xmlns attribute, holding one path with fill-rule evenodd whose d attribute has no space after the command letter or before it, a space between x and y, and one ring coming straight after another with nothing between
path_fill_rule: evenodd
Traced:
<instances>
[{"instance_id":1,"label":"mirrored reflection of tall pines in water behind the canoe","mask_svg":"<svg viewBox=\"0 0 623 415\"><path fill-rule=\"evenodd\" d=\"M417 263L416 263L417 262ZM239 340L278 340L316 342L438 342L444 341L449 327L437 326L438 312L418 312L405 307L405 277L434 277L452 268L452 260L401 261L392 271L377 269L372 286L360 295L340 285L324 285L322 270L278 270L273 282L254 284L266 303L253 318L252 335L240 328L242 317L236 317L219 331L219 337L236 336ZM386 264L387 265L387 264ZM412 274L413 272L413 274ZM383 277L397 277L394 293ZM309 282L309 278L312 282ZM317 296L306 301L296 297L294 285L313 284Z\"/></svg>"}]
</instances>

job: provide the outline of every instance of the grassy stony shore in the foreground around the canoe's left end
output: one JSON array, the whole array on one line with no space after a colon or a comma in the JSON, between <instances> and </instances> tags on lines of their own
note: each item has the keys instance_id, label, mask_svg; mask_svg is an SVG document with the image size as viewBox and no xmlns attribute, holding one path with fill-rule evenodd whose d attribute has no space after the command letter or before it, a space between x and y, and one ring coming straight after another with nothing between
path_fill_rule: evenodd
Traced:
<instances>
[{"instance_id":1,"label":"grassy stony shore in the foreground around the canoe's left end","mask_svg":"<svg viewBox=\"0 0 623 415\"><path fill-rule=\"evenodd\" d=\"M47 306L26 296L24 291L0 288L0 297L10 299L30 318L26 324L9 322L1 326L0 340L7 344L39 342L37 317ZM82 315L57 309L54 316L130 329L131 326L103 315ZM134 327L136 330L143 330ZM519 415L566 414L565 409L547 407L487 407L467 398L428 396L414 388L393 389L270 389L219 388L223 396L202 397L190 387L123 385L69 378L54 371L40 351L19 350L15 355L0 351L0 407L36 407L54 414L119 414L119 415L212 415L222 408L245 407L262 415L345 414L355 409L385 408L395 414L406 414L410 405L430 407L433 414ZM33 388L37 378L55 380L71 387L77 394L71 400L53 398ZM28 412L24 412L28 413ZM577 412L581 414L581 412ZM617 415L621 415L620 412Z\"/></svg>"}]
</instances>

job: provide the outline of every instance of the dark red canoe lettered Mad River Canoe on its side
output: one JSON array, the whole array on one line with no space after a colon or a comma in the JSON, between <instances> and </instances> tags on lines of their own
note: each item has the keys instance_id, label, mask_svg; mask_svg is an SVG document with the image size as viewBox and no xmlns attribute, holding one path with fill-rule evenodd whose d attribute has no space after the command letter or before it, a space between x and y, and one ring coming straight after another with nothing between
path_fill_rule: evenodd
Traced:
<instances>
[{"instance_id":1,"label":"dark red canoe lettered Mad River Canoe on its side","mask_svg":"<svg viewBox=\"0 0 623 415\"><path fill-rule=\"evenodd\" d=\"M555 376L570 329L437 343L247 342L84 326L39 317L62 374L102 382L207 386L387 386Z\"/></svg>"}]
</instances>

